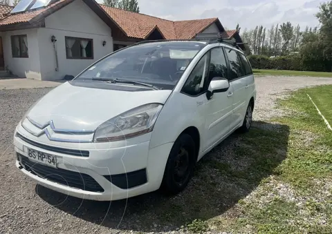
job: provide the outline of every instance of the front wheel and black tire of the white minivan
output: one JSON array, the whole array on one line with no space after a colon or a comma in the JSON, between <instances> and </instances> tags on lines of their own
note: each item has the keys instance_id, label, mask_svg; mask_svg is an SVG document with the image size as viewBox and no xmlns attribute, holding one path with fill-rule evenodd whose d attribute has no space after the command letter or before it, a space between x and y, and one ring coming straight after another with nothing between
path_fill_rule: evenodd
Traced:
<instances>
[{"instance_id":1,"label":"front wheel and black tire of the white minivan","mask_svg":"<svg viewBox=\"0 0 332 234\"><path fill-rule=\"evenodd\" d=\"M161 191L176 195L183 191L192 178L196 164L196 146L190 135L182 134L176 139L165 167Z\"/></svg>"}]
</instances>

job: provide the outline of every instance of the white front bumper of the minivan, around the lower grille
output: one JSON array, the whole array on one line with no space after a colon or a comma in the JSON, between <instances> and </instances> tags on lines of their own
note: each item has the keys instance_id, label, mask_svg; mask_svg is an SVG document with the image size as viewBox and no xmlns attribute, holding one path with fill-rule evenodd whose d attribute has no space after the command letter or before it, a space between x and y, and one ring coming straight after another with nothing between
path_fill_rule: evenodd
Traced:
<instances>
[{"instance_id":1,"label":"white front bumper of the minivan, around the lower grille","mask_svg":"<svg viewBox=\"0 0 332 234\"><path fill-rule=\"evenodd\" d=\"M33 138L29 137L27 133L22 133L21 130L19 134L27 139ZM36 139L31 140L37 142ZM173 143L163 144L155 148L149 148L149 141L118 148L113 148L109 143L86 143L79 144L77 148L71 148L73 150L88 150L89 157L55 153L54 151L29 144L22 138L17 137L16 134L14 137L14 145L17 155L24 157L28 162L29 159L26 147L57 156L57 168L59 168L59 170L64 170L64 172L67 171L69 173L80 173L83 175L81 177L91 177L100 185L102 190L87 191L86 189L84 190L84 188L72 186L71 183L59 183L54 179L43 177L38 173L36 174L35 171L25 168L22 162L20 162L19 157L17 157L17 168L38 184L73 197L110 201L156 191L162 182L165 165ZM59 145L57 147L59 147ZM45 172L47 168L47 166L44 166L42 169ZM49 168L49 170L50 173L54 174L57 169ZM138 172L140 173L137 174ZM125 175L127 183L122 182L119 184L114 181L114 178L119 179L120 175L121 177ZM137 175L139 175L140 178L137 178ZM141 178L144 175L145 180ZM59 173L59 176L61 177L62 174ZM69 176L72 177L71 175ZM133 182L135 178L136 182ZM137 182L137 179L139 182ZM123 179L120 180L123 181Z\"/></svg>"}]
</instances>

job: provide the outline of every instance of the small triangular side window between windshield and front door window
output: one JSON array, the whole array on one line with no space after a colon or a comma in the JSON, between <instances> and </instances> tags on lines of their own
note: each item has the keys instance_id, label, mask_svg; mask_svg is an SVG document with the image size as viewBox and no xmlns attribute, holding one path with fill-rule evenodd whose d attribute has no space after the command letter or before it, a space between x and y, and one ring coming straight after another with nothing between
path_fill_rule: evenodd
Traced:
<instances>
[{"instance_id":1,"label":"small triangular side window between windshield and front door window","mask_svg":"<svg viewBox=\"0 0 332 234\"><path fill-rule=\"evenodd\" d=\"M199 60L187 81L185 81L183 92L188 95L196 96L204 91L204 81L208 73L208 54Z\"/></svg>"}]
</instances>

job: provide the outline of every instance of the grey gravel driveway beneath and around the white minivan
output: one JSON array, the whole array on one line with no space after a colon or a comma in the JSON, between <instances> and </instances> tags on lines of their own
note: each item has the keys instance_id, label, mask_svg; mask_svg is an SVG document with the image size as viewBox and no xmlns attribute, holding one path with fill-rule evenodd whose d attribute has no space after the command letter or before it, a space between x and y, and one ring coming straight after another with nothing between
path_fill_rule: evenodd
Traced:
<instances>
[{"instance_id":1,"label":"grey gravel driveway beneath and around the white minivan","mask_svg":"<svg viewBox=\"0 0 332 234\"><path fill-rule=\"evenodd\" d=\"M258 93L254 119L264 120L278 113L274 102L285 95L284 92L332 84L332 79L256 77L256 84ZM212 206L205 214L210 218L228 211L238 197L248 195L245 194L248 191L235 187L235 195L234 191L230 197L215 193L222 199L213 202L206 199L204 179L211 179L209 175L204 179L201 179L203 175L196 175L190 186L176 197L151 193L116 202L82 201L37 186L15 167L12 135L28 107L49 90L0 90L0 233L180 233L180 226L185 225L181 217L195 217L196 212L203 208L201 204ZM215 152L213 150L210 156L214 157ZM216 190L227 193L224 188ZM235 198L232 199L232 196ZM200 206L195 207L196 200L200 200Z\"/></svg>"}]
</instances>

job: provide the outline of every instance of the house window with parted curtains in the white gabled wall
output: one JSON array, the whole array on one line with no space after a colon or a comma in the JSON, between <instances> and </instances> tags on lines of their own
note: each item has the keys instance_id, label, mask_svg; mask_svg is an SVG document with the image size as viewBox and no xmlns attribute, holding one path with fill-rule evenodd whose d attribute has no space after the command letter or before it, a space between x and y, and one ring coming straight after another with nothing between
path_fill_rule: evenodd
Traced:
<instances>
[{"instance_id":1,"label":"house window with parted curtains in the white gabled wall","mask_svg":"<svg viewBox=\"0 0 332 234\"><path fill-rule=\"evenodd\" d=\"M93 40L78 37L64 37L67 59L93 59Z\"/></svg>"}]
</instances>

